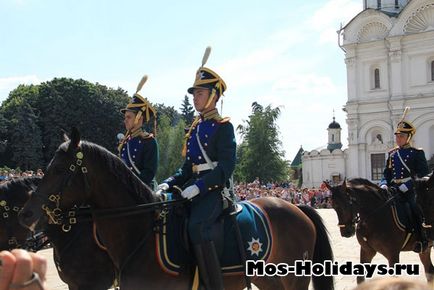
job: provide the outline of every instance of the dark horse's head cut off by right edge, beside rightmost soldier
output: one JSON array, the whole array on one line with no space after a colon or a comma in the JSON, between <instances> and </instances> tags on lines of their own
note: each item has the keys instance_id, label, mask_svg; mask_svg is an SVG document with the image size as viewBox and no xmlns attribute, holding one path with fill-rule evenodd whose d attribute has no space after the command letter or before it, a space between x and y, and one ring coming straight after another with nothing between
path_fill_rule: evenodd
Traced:
<instances>
[{"instance_id":1,"label":"dark horse's head cut off by right edge, beside rightmost soldier","mask_svg":"<svg viewBox=\"0 0 434 290\"><path fill-rule=\"evenodd\" d=\"M414 180L416 202L422 208L425 224L429 227L434 223L434 174Z\"/></svg>"}]
</instances>

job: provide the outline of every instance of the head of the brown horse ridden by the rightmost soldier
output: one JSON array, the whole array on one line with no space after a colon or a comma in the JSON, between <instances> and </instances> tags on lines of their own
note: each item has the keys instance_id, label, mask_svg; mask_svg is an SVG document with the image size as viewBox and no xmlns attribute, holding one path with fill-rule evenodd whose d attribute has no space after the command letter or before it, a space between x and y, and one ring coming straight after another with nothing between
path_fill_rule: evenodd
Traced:
<instances>
[{"instance_id":1,"label":"head of the brown horse ridden by the rightmost soldier","mask_svg":"<svg viewBox=\"0 0 434 290\"><path fill-rule=\"evenodd\" d=\"M326 187L331 192L332 206L338 215L338 227L341 236L349 238L356 232L357 211L355 210L354 198L347 190L347 181L341 185L331 186L324 181Z\"/></svg>"}]
</instances>

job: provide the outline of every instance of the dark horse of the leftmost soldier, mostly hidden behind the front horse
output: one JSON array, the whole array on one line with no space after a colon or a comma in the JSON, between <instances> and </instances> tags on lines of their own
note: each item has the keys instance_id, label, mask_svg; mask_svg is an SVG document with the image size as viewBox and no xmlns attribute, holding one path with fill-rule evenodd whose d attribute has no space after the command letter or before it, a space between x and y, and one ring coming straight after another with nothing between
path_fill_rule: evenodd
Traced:
<instances>
[{"instance_id":1,"label":"dark horse of the leftmost soldier, mostly hidden behind the front horse","mask_svg":"<svg viewBox=\"0 0 434 290\"><path fill-rule=\"evenodd\" d=\"M31 231L19 224L18 210L29 200L31 192L40 182L40 177L25 177L0 185L0 204L4 204L0 206L3 213L7 212L5 206L10 212L7 218L3 215L0 222L1 249L27 248ZM112 286L114 266L107 252L95 244L92 223L82 223L68 232L59 225L51 224L46 227L45 234L53 246L59 276L70 290L103 290Z\"/></svg>"}]
</instances>

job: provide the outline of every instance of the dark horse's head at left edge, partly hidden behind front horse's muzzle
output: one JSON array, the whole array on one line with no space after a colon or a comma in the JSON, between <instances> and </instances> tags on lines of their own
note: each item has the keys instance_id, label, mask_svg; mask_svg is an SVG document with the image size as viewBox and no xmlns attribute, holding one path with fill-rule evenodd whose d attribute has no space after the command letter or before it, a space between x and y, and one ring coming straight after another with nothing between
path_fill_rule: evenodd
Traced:
<instances>
[{"instance_id":1,"label":"dark horse's head at left edge, partly hidden behind front horse's muzzle","mask_svg":"<svg viewBox=\"0 0 434 290\"><path fill-rule=\"evenodd\" d=\"M40 178L13 179L0 186L0 250L30 247L30 231L21 226L18 212L36 189Z\"/></svg>"}]
</instances>

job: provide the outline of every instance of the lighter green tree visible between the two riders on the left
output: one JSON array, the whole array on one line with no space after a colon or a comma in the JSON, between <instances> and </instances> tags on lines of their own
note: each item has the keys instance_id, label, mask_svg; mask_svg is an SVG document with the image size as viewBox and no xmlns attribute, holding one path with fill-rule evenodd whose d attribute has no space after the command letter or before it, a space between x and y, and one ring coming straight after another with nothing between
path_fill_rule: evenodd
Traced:
<instances>
[{"instance_id":1,"label":"lighter green tree visible between the two riders on the left","mask_svg":"<svg viewBox=\"0 0 434 290\"><path fill-rule=\"evenodd\" d=\"M160 115L157 135L160 149L160 163L156 177L158 182L173 175L181 167L184 160L181 151L184 142L185 123L181 120L176 126L172 126L170 122L169 116Z\"/></svg>"}]
</instances>

